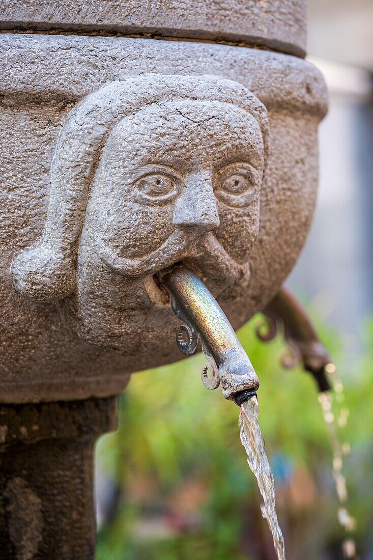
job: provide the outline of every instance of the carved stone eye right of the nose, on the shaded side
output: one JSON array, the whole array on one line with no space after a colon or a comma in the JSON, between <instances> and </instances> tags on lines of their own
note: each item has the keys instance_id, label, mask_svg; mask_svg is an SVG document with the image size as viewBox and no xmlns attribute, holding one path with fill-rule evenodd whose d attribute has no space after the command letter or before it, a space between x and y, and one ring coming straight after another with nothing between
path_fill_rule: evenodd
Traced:
<instances>
[{"instance_id":1,"label":"carved stone eye right of the nose, on the shaded side","mask_svg":"<svg viewBox=\"0 0 373 560\"><path fill-rule=\"evenodd\" d=\"M251 166L245 162L223 167L215 174L213 183L216 197L228 206L249 206L258 198Z\"/></svg>"}]
</instances>

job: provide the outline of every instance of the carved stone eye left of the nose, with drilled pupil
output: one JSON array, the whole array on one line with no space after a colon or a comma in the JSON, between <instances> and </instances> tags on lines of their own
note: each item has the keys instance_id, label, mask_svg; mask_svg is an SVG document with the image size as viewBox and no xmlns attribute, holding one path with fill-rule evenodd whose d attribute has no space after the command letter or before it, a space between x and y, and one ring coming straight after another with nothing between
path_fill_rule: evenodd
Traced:
<instances>
[{"instance_id":1,"label":"carved stone eye left of the nose, with drilled pupil","mask_svg":"<svg viewBox=\"0 0 373 560\"><path fill-rule=\"evenodd\" d=\"M144 175L134 183L135 198L147 204L166 204L179 194L179 180L163 173Z\"/></svg>"}]
</instances>

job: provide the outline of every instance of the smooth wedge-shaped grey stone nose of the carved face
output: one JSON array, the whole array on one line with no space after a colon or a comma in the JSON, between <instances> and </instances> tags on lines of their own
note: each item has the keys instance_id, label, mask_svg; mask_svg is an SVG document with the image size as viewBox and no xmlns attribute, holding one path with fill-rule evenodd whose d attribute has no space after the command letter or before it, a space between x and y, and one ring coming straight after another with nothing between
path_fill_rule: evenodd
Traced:
<instances>
[{"instance_id":1,"label":"smooth wedge-shaped grey stone nose of the carved face","mask_svg":"<svg viewBox=\"0 0 373 560\"><path fill-rule=\"evenodd\" d=\"M209 175L194 175L176 201L173 222L178 227L211 231L219 226L219 214Z\"/></svg>"}]
</instances>

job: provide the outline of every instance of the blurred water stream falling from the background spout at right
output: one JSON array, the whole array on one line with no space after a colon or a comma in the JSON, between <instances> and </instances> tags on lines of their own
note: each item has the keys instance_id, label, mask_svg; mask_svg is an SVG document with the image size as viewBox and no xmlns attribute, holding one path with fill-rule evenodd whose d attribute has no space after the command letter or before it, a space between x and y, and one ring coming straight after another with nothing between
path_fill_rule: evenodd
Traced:
<instances>
[{"instance_id":1,"label":"blurred water stream falling from the background spout at right","mask_svg":"<svg viewBox=\"0 0 373 560\"><path fill-rule=\"evenodd\" d=\"M327 371L329 374L334 374L335 366L330 363L327 366ZM336 399L339 403L343 403L343 384L342 381L335 378L333 379L333 389L335 391ZM337 431L335 429L335 418L333 413L333 396L330 392L320 393L319 402L321 404L321 410L323 411L323 417L325 424L328 428L328 435L330 446L333 452L333 478L335 483L335 490L337 492L339 508L338 508L338 522L347 533L347 538L343 540L342 549L344 558L351 560L357 560L356 554L356 543L352 538L351 534L355 530L356 521L349 515L348 509L346 507L348 501L348 493L346 486L346 478L342 474L343 469L343 456L347 455L350 451L350 446L346 442L341 445L339 442ZM345 427L347 424L349 410L348 408L342 408L338 417L338 426Z\"/></svg>"}]
</instances>

